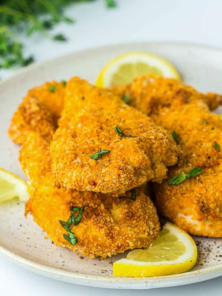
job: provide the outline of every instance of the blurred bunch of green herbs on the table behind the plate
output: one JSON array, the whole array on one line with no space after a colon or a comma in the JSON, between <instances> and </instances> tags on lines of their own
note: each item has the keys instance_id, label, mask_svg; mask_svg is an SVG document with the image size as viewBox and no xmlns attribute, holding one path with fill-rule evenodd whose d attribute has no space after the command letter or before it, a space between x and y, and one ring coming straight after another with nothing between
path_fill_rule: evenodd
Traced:
<instances>
[{"instance_id":1,"label":"blurred bunch of green herbs on the table behind the plate","mask_svg":"<svg viewBox=\"0 0 222 296\"><path fill-rule=\"evenodd\" d=\"M0 0L0 68L15 65L26 66L33 56L24 57L23 45L18 32L31 36L34 32L46 34L59 22L73 23L64 15L65 6L94 0ZM105 1L107 7L115 7L115 1ZM53 40L66 41L63 34L52 36Z\"/></svg>"}]
</instances>

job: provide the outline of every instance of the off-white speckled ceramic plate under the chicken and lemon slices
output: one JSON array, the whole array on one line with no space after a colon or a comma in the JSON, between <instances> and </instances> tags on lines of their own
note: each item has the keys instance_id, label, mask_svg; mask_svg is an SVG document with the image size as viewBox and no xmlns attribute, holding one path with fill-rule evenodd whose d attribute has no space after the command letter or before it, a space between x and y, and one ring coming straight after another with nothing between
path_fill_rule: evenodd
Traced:
<instances>
[{"instance_id":1,"label":"off-white speckled ceramic plate under the chicken and lemon slices","mask_svg":"<svg viewBox=\"0 0 222 296\"><path fill-rule=\"evenodd\" d=\"M107 46L67 54L17 72L0 84L0 167L25 179L17 160L19 147L7 137L10 118L26 91L51 79L73 75L94 82L102 66L124 52L142 50L158 54L176 66L184 82L200 91L222 93L222 51L202 46L167 43L135 43ZM112 276L112 262L125 254L106 260L89 259L69 249L57 247L29 215L24 204L13 200L0 205L0 253L38 274L54 279L94 287L148 289L170 287L212 279L222 275L222 239L194 237L198 245L198 263L191 271L153 278Z\"/></svg>"}]
</instances>

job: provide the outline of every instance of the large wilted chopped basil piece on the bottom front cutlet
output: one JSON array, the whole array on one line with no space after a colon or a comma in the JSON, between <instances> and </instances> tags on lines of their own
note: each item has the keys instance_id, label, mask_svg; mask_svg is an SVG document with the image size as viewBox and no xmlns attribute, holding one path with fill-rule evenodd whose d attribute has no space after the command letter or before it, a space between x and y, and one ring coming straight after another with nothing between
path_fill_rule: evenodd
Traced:
<instances>
[{"instance_id":1,"label":"large wilted chopped basil piece on the bottom front cutlet","mask_svg":"<svg viewBox=\"0 0 222 296\"><path fill-rule=\"evenodd\" d=\"M87 205L83 205L83 207L71 207L71 209L70 209L71 215L69 216L68 220L66 222L59 220L62 227L68 233L68 235L63 234L64 239L66 239L73 246L74 246L74 244L76 244L78 242L78 240L77 240L77 237L75 236L75 234L70 230L70 226L72 224L78 225L81 222L82 213L84 212L86 206ZM74 217L73 212L79 212L79 213Z\"/></svg>"}]
</instances>

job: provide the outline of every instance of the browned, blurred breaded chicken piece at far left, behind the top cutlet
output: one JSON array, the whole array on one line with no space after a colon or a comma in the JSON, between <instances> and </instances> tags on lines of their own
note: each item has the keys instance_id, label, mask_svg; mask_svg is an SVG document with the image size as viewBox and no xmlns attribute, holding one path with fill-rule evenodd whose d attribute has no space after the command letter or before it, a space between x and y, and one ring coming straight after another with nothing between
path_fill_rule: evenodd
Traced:
<instances>
[{"instance_id":1,"label":"browned, blurred breaded chicken piece at far left, behind the top cutlet","mask_svg":"<svg viewBox=\"0 0 222 296\"><path fill-rule=\"evenodd\" d=\"M56 81L30 89L12 117L9 137L21 144L28 131L36 131L51 141L63 108L64 89L64 83Z\"/></svg>"}]
</instances>

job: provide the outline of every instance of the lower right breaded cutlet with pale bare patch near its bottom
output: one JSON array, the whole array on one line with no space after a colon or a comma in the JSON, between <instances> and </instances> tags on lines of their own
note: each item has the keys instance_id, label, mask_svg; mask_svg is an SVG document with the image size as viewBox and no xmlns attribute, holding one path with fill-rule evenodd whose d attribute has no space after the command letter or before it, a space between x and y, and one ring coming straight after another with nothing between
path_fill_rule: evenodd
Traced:
<instances>
[{"instance_id":1,"label":"lower right breaded cutlet with pale bare patch near its bottom","mask_svg":"<svg viewBox=\"0 0 222 296\"><path fill-rule=\"evenodd\" d=\"M180 173L180 168L171 168L168 180ZM191 234L222 237L221 184L222 164L178 185L155 184L157 210Z\"/></svg>"}]
</instances>

